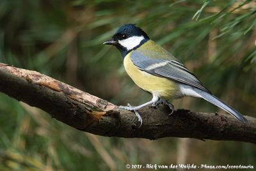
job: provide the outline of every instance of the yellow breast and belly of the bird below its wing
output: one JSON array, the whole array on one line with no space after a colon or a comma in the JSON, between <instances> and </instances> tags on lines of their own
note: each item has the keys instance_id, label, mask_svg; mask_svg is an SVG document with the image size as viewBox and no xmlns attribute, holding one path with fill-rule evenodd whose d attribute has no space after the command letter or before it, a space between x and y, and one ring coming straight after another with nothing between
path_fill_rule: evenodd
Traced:
<instances>
[{"instance_id":1,"label":"yellow breast and belly of the bird below its wing","mask_svg":"<svg viewBox=\"0 0 256 171\"><path fill-rule=\"evenodd\" d=\"M130 54L130 53L129 53ZM124 58L124 67L128 75L141 89L152 94L157 94L162 98L168 100L170 98L177 98L178 86L175 82L164 78L151 75L145 71L139 70L131 61L130 55L127 54Z\"/></svg>"}]
</instances>

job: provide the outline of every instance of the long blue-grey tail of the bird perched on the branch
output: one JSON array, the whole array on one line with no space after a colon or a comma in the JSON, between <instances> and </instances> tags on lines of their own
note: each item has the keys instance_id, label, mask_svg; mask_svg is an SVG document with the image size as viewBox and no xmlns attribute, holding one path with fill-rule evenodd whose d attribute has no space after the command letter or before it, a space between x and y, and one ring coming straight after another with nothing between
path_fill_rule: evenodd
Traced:
<instances>
[{"instance_id":1,"label":"long blue-grey tail of the bird perched on the branch","mask_svg":"<svg viewBox=\"0 0 256 171\"><path fill-rule=\"evenodd\" d=\"M205 91L202 91L200 89L194 89L194 90L196 91L196 93L200 94L200 96L202 96L202 98L204 98L204 100L207 100L210 103L216 105L217 107L220 107L221 109L225 110L226 112L228 112L228 114L233 115L234 117L236 117L236 119L238 119L242 123L247 122L247 119L245 119L245 117L243 115L241 115L234 108L230 107L229 105L227 105L226 103L221 101L216 96L213 96L212 94L209 94L209 93L207 93Z\"/></svg>"}]
</instances>

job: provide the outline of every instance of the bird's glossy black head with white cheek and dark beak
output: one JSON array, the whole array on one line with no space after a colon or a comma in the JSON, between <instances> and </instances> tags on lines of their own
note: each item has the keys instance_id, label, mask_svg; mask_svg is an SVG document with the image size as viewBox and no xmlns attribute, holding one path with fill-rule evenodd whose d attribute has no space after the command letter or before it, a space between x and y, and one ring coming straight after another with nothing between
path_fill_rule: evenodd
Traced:
<instances>
[{"instance_id":1,"label":"bird's glossy black head with white cheek and dark beak","mask_svg":"<svg viewBox=\"0 0 256 171\"><path fill-rule=\"evenodd\" d=\"M125 57L131 50L140 47L143 43L149 40L145 33L135 24L125 24L120 27L111 40L105 41L104 45L115 45L120 50L122 57Z\"/></svg>"}]
</instances>

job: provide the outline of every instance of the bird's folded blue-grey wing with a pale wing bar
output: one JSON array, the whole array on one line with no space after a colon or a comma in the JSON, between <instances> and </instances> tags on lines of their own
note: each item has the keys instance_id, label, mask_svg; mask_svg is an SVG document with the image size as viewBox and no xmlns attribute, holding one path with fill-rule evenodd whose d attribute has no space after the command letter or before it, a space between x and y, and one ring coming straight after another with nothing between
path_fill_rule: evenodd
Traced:
<instances>
[{"instance_id":1,"label":"bird's folded blue-grey wing with a pale wing bar","mask_svg":"<svg viewBox=\"0 0 256 171\"><path fill-rule=\"evenodd\" d=\"M169 78L175 82L191 85L207 93L211 93L193 73L174 57L170 59L150 58L135 50L131 52L130 58L132 63L140 70L152 75Z\"/></svg>"}]
</instances>

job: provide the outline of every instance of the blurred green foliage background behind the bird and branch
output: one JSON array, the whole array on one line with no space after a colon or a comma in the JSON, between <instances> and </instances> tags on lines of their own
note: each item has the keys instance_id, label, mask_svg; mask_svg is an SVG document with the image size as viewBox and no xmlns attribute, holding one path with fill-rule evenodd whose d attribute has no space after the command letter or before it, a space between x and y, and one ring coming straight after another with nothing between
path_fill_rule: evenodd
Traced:
<instances>
[{"instance_id":1,"label":"blurred green foliage background behind the bird and branch","mask_svg":"<svg viewBox=\"0 0 256 171\"><path fill-rule=\"evenodd\" d=\"M0 1L0 62L36 70L117 105L150 99L102 42L136 23L205 87L256 117L255 1ZM175 108L223 112L195 98ZM244 142L109 138L83 133L0 94L0 170L125 170L125 164L254 165ZM180 149L186 149L185 152ZM180 160L178 160L180 161Z\"/></svg>"}]
</instances>

